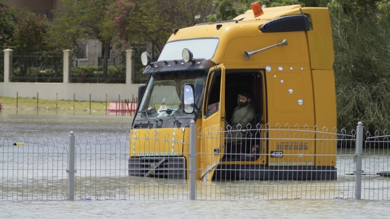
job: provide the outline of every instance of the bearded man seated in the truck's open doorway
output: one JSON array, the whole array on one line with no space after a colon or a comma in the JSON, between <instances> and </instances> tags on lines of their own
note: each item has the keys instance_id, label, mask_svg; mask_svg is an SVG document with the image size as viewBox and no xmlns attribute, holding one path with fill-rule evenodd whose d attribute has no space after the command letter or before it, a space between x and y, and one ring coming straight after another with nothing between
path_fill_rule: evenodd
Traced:
<instances>
[{"instance_id":1,"label":"bearded man seated in the truck's open doorway","mask_svg":"<svg viewBox=\"0 0 390 219\"><path fill-rule=\"evenodd\" d=\"M225 143L237 142L245 137L245 133L240 130L247 129L248 123L251 123L256 115L256 110L251 104L251 94L240 92L237 102L238 106L234 108L232 119L229 123L225 120L225 129L228 130Z\"/></svg>"}]
</instances>

